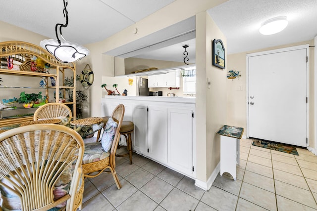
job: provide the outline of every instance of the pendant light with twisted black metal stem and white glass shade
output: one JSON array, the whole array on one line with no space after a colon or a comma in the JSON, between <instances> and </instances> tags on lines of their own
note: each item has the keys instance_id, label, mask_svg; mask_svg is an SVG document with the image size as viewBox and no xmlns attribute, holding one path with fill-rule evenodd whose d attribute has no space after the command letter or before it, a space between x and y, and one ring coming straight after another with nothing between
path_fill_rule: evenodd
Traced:
<instances>
[{"instance_id":1,"label":"pendant light with twisted black metal stem and white glass shade","mask_svg":"<svg viewBox=\"0 0 317 211\"><path fill-rule=\"evenodd\" d=\"M67 27L68 25L68 12L67 12L67 0L63 0L64 2L64 17L66 18L65 24L57 23L55 26L55 34L57 40L43 40L40 42L41 47L47 49L58 61L68 63L74 62L83 57L89 55L89 50L77 43L66 41L61 33L62 27ZM60 37L63 39L62 41L58 37L57 30L59 28Z\"/></svg>"}]
</instances>

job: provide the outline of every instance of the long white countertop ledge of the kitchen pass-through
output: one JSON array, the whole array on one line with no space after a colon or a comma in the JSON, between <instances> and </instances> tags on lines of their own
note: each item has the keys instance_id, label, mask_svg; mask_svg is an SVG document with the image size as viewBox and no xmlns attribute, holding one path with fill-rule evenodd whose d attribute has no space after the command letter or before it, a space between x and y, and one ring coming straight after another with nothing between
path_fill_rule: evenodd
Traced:
<instances>
[{"instance_id":1,"label":"long white countertop ledge of the kitchen pass-through","mask_svg":"<svg viewBox=\"0 0 317 211\"><path fill-rule=\"evenodd\" d=\"M104 99L120 99L135 101L157 101L171 103L196 103L196 97L165 97L165 96L122 96L122 95L106 95Z\"/></svg>"}]
</instances>

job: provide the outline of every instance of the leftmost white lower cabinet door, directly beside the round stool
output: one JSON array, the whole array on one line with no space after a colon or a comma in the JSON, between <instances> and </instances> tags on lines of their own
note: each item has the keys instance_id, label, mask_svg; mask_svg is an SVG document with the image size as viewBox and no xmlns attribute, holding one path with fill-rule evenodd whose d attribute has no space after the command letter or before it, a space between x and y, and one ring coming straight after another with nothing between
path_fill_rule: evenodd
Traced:
<instances>
[{"instance_id":1,"label":"leftmost white lower cabinet door, directly beside the round stool","mask_svg":"<svg viewBox=\"0 0 317 211\"><path fill-rule=\"evenodd\" d=\"M147 106L136 105L132 114L134 123L133 150L140 154L148 154L148 112Z\"/></svg>"}]
</instances>

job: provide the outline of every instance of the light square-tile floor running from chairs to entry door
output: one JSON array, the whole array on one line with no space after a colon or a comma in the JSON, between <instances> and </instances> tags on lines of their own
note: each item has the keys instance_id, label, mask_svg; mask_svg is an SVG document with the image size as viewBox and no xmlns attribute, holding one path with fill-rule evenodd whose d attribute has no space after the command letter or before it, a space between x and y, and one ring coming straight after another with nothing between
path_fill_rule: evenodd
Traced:
<instances>
[{"instance_id":1,"label":"light square-tile floor running from chairs to entry door","mask_svg":"<svg viewBox=\"0 0 317 211\"><path fill-rule=\"evenodd\" d=\"M316 211L317 156L297 150L299 156L241 139L237 180L218 174L208 191L140 155L133 155L133 165L116 157L122 188L106 172L86 178L82 211Z\"/></svg>"}]
</instances>

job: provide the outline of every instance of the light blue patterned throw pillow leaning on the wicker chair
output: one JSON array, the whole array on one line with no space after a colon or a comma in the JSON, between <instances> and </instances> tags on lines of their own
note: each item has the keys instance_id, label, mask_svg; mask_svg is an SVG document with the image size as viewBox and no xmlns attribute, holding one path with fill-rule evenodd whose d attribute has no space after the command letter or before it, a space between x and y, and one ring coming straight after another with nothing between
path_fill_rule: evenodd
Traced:
<instances>
[{"instance_id":1,"label":"light blue patterned throw pillow leaning on the wicker chair","mask_svg":"<svg viewBox=\"0 0 317 211\"><path fill-rule=\"evenodd\" d=\"M105 152L109 152L117 130L118 124L110 117L106 123L103 136L101 137L101 145L103 146Z\"/></svg>"}]
</instances>

